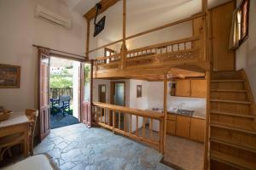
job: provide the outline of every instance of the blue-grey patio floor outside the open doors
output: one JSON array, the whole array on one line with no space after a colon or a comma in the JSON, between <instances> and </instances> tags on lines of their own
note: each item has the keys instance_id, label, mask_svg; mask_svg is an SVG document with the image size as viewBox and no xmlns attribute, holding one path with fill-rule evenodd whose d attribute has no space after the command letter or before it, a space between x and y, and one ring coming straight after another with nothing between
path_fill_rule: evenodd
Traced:
<instances>
[{"instance_id":1,"label":"blue-grey patio floor outside the open doors","mask_svg":"<svg viewBox=\"0 0 256 170\"><path fill-rule=\"evenodd\" d=\"M79 119L72 115L63 116L61 113L56 113L55 116L50 116L50 128L66 127L79 123Z\"/></svg>"}]
</instances>

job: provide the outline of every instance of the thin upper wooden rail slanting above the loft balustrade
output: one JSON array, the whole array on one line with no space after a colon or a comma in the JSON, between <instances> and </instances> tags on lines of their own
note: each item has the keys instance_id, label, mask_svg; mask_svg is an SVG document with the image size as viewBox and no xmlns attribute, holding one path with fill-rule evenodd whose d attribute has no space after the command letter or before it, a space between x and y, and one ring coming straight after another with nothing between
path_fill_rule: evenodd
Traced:
<instances>
[{"instance_id":1,"label":"thin upper wooden rail slanting above the loft balustrade","mask_svg":"<svg viewBox=\"0 0 256 170\"><path fill-rule=\"evenodd\" d=\"M195 20L195 19L200 18L200 17L203 17L203 16L205 16L205 15L206 15L206 14L204 14L204 13L195 14L195 15L192 15L192 16L190 16L189 18L186 18L186 19L183 19L183 20L177 20L177 21L175 21L175 22L166 24L166 25L164 25L164 26L158 26L158 27L155 27L155 28L150 29L150 30L147 30L147 31L139 32L139 33L137 33L137 34L135 34L135 35L132 35L132 36L130 36L130 37L126 37L125 40L129 40L129 39L132 39L132 38L134 38L134 37L143 36L144 34L148 34L148 33L153 32L153 31L159 31L159 30L162 30L162 29L167 28L167 27L170 27L170 26L176 26L176 25L181 24L181 23L183 23L183 22L187 22L187 21L189 21L189 20ZM113 44L115 44L115 43L122 42L122 41L123 41L123 39L119 39L119 40L117 40L117 41L115 41L115 42L110 42L110 43L108 43L108 44L106 44L106 45L102 45L101 47L91 49L88 53L90 54L91 52L94 52L94 51L96 51L96 50L98 50L98 49L106 48L106 47L108 47L108 46L111 46L111 45L113 45Z\"/></svg>"}]
</instances>

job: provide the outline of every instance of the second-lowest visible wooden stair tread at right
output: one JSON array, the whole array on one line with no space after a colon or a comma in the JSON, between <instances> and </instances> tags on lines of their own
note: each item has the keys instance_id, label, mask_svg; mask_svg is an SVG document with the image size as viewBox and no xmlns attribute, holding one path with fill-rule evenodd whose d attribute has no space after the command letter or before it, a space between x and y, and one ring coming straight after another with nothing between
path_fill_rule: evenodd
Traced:
<instances>
[{"instance_id":1,"label":"second-lowest visible wooden stair tread at right","mask_svg":"<svg viewBox=\"0 0 256 170\"><path fill-rule=\"evenodd\" d=\"M210 139L210 141L218 143L218 144L225 144L225 145L229 145L241 150L247 150L253 153L256 153L256 148L250 145L245 145L245 144L239 144L239 143L235 143L235 142L230 142L229 140L225 140L225 139L217 139L217 138L212 138Z\"/></svg>"}]
</instances>

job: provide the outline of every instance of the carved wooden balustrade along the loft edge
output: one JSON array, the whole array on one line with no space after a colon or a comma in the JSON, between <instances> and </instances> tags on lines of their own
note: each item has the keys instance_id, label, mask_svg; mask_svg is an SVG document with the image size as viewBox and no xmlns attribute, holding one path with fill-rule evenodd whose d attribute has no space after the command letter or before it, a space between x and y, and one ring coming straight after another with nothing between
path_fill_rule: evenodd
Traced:
<instances>
[{"instance_id":1,"label":"carved wooden balustrade along the loft edge","mask_svg":"<svg viewBox=\"0 0 256 170\"><path fill-rule=\"evenodd\" d=\"M154 65L155 63L165 65L166 62L187 59L200 61L202 59L200 41L200 37L189 37L132 49L125 53L125 65L126 67ZM117 69L120 67L120 54L96 58L95 65L95 71Z\"/></svg>"}]
</instances>

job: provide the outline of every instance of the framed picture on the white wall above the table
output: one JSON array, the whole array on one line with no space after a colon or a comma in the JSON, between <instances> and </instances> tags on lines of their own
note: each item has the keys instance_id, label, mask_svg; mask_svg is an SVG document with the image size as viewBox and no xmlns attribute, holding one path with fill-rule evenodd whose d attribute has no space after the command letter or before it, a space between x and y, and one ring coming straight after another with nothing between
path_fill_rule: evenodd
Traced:
<instances>
[{"instance_id":1,"label":"framed picture on the white wall above the table","mask_svg":"<svg viewBox=\"0 0 256 170\"><path fill-rule=\"evenodd\" d=\"M0 64L0 88L20 88L20 66Z\"/></svg>"}]
</instances>

